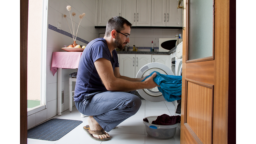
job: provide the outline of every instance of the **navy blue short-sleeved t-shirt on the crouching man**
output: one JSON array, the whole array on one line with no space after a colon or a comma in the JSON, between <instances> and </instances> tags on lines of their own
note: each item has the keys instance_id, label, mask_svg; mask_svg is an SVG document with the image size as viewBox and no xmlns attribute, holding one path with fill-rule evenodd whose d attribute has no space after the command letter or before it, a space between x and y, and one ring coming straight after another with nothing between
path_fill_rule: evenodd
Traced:
<instances>
[{"instance_id":1,"label":"navy blue short-sleeved t-shirt on the crouching man","mask_svg":"<svg viewBox=\"0 0 256 144\"><path fill-rule=\"evenodd\" d=\"M104 38L92 40L85 47L77 71L75 102L83 100L87 94L108 91L101 82L94 62L99 58L105 58L111 62L114 71L115 67L119 67L116 50L112 51L112 55L113 58Z\"/></svg>"}]
</instances>

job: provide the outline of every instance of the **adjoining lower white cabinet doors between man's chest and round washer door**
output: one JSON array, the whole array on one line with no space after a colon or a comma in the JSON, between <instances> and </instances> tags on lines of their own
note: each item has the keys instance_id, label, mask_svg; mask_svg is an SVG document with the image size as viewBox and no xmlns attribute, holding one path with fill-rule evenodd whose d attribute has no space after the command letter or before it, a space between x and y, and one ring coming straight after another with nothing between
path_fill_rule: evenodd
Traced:
<instances>
[{"instance_id":1,"label":"adjoining lower white cabinet doors between man's chest and round washer door","mask_svg":"<svg viewBox=\"0 0 256 144\"><path fill-rule=\"evenodd\" d=\"M140 68L152 62L151 54L120 54L119 71L122 76L135 78Z\"/></svg>"}]
</instances>

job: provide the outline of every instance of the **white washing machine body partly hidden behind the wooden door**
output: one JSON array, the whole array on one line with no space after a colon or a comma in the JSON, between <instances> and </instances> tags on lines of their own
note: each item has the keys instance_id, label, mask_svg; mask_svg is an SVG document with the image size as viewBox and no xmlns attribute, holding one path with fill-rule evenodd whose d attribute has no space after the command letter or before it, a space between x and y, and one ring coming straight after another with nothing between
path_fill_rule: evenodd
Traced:
<instances>
[{"instance_id":1,"label":"white washing machine body partly hidden behind the wooden door","mask_svg":"<svg viewBox=\"0 0 256 144\"><path fill-rule=\"evenodd\" d=\"M175 75L176 76L182 76L182 43L177 45L176 47L176 55L175 55ZM181 114L177 114L176 110L177 110L177 106L178 103L177 101L175 101L175 115L181 115Z\"/></svg>"}]
</instances>

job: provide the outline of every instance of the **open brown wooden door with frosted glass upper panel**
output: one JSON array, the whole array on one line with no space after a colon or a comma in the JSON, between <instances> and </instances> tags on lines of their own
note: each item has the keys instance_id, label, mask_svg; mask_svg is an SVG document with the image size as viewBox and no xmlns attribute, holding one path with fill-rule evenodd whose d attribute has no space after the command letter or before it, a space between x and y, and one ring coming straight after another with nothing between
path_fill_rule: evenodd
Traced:
<instances>
[{"instance_id":1,"label":"open brown wooden door with frosted glass upper panel","mask_svg":"<svg viewBox=\"0 0 256 144\"><path fill-rule=\"evenodd\" d=\"M231 111L229 95L232 93L230 86L234 86L229 83L230 79L233 79L230 77L230 69L232 69L230 68L232 61L230 61L231 53L229 51L231 49L229 38L232 37L229 35L230 3L229 1L214 0L212 6L207 8L203 2L205 1L185 0L184 3L180 143L226 144L228 135L233 133L230 131L231 125L228 128L228 114ZM199 7L204 8L199 10ZM197 19L192 16L192 13L206 14L206 9L210 9L211 12L208 18L199 16L201 19ZM201 25L198 24L200 29L205 27L204 21L212 20L212 27L209 26L205 29L205 32L208 33L207 37L210 38L208 43L204 43L207 41L205 40L206 36L197 35L200 29L192 26L193 20L203 20ZM193 45L197 45L196 47L201 47L201 49L193 49ZM208 50L210 53L206 52L207 47L212 47L212 51ZM206 53L206 56L197 57L193 54L195 52Z\"/></svg>"}]
</instances>

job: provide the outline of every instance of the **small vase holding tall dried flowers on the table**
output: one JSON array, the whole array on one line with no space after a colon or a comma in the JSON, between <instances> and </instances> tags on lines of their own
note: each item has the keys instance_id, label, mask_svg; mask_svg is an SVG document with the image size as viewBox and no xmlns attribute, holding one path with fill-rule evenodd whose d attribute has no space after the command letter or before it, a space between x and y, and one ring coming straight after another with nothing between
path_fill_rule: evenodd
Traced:
<instances>
[{"instance_id":1,"label":"small vase holding tall dried flowers on the table","mask_svg":"<svg viewBox=\"0 0 256 144\"><path fill-rule=\"evenodd\" d=\"M74 43L72 44L72 46L75 47L75 46L77 45L77 44L76 44L76 36L77 36L78 28L79 28L79 25L80 25L80 23L81 23L83 17L85 16L85 13L79 15L79 19L80 19L80 20L79 20L79 24L78 24L77 31L76 31L76 36L75 36L75 16L76 16L76 13L74 13L74 12L72 13L72 16L74 17L74 26L73 26L72 17L71 17L71 13L70 13L70 11L71 11L71 6L67 6L67 10L69 11L69 14L70 14L71 24L72 24L72 31L73 31L73 33L72 33L71 28L70 28L70 26L69 26L69 24L68 24L68 27L69 27L69 29L70 29L72 38L73 38L73 40L74 40ZM67 15L64 14L64 18L66 18L66 17L67 17ZM67 23L68 23L67 18L66 18L66 21L67 21Z\"/></svg>"}]
</instances>

